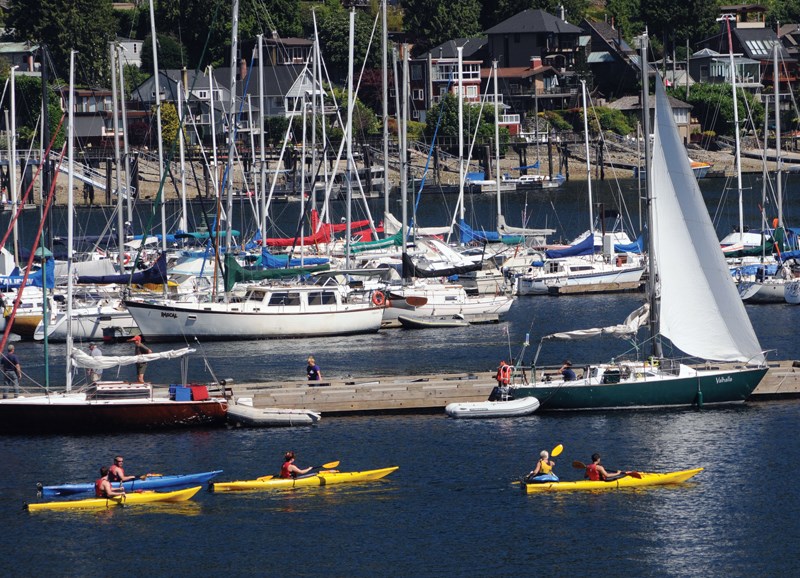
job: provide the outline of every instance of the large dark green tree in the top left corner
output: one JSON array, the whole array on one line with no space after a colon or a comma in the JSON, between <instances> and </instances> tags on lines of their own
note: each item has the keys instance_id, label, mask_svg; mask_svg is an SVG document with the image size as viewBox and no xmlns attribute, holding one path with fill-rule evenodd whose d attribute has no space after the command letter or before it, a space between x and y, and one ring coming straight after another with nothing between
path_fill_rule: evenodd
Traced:
<instances>
[{"instance_id":1,"label":"large dark green tree in the top left corner","mask_svg":"<svg viewBox=\"0 0 800 578\"><path fill-rule=\"evenodd\" d=\"M75 50L79 82L108 77L108 42L116 33L111 0L10 0L6 26L16 40L46 44L60 76L67 77Z\"/></svg>"}]
</instances>

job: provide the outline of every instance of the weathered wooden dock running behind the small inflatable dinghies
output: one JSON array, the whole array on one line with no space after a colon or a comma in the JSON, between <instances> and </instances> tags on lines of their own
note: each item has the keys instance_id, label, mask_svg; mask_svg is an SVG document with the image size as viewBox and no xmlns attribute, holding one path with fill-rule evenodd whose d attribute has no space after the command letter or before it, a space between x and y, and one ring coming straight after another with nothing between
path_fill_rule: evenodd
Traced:
<instances>
[{"instance_id":1,"label":"weathered wooden dock running behind the small inflatable dinghies","mask_svg":"<svg viewBox=\"0 0 800 578\"><path fill-rule=\"evenodd\" d=\"M715 367L718 365L715 365ZM484 401L496 385L494 371L230 385L256 407L313 409L324 416L375 413L438 413L448 403ZM800 362L770 364L751 401L800 397Z\"/></svg>"}]
</instances>

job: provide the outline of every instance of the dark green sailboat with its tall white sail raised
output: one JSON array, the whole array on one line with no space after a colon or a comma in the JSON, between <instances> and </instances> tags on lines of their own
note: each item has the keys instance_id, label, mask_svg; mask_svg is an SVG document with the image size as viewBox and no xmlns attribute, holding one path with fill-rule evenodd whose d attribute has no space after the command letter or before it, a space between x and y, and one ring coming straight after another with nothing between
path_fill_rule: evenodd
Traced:
<instances>
[{"instance_id":1,"label":"dark green sailboat with its tall white sail raised","mask_svg":"<svg viewBox=\"0 0 800 578\"><path fill-rule=\"evenodd\" d=\"M649 70L646 48L642 62L643 70ZM648 83L643 84L646 87ZM656 128L652 166L647 171L653 280L649 296L650 308L656 312L650 316L654 355L647 361L589 364L571 381L557 373L543 375L534 360L534 382L515 383L511 393L514 398L536 397L542 410L740 403L767 372L764 353L719 250L658 76L655 84ZM648 110L647 92L644 105ZM621 326L547 335L543 341L603 333L635 336L644 319L640 311ZM698 368L664 358L662 338L694 358L736 365Z\"/></svg>"}]
</instances>

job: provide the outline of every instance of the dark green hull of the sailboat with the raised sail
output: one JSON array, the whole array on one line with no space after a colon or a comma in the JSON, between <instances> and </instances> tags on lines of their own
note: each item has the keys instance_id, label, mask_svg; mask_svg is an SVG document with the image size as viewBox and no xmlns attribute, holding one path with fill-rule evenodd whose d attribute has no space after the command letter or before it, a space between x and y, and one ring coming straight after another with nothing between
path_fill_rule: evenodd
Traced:
<instances>
[{"instance_id":1,"label":"dark green hull of the sailboat with the raised sail","mask_svg":"<svg viewBox=\"0 0 800 578\"><path fill-rule=\"evenodd\" d=\"M618 383L602 383L602 379L539 382L512 387L512 396L515 399L535 396L541 404L540 411L734 404L744 402L766 373L766 368L745 368L698 370L695 375L634 377Z\"/></svg>"}]
</instances>

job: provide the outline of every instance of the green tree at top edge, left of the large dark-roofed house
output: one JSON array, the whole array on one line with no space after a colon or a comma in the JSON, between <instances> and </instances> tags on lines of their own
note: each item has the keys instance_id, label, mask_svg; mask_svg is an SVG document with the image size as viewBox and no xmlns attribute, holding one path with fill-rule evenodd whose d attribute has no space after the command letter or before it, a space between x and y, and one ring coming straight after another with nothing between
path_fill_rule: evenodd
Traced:
<instances>
[{"instance_id":1,"label":"green tree at top edge, left of the large dark-roofed house","mask_svg":"<svg viewBox=\"0 0 800 578\"><path fill-rule=\"evenodd\" d=\"M481 33L478 0L403 0L406 33L418 50Z\"/></svg>"}]
</instances>

